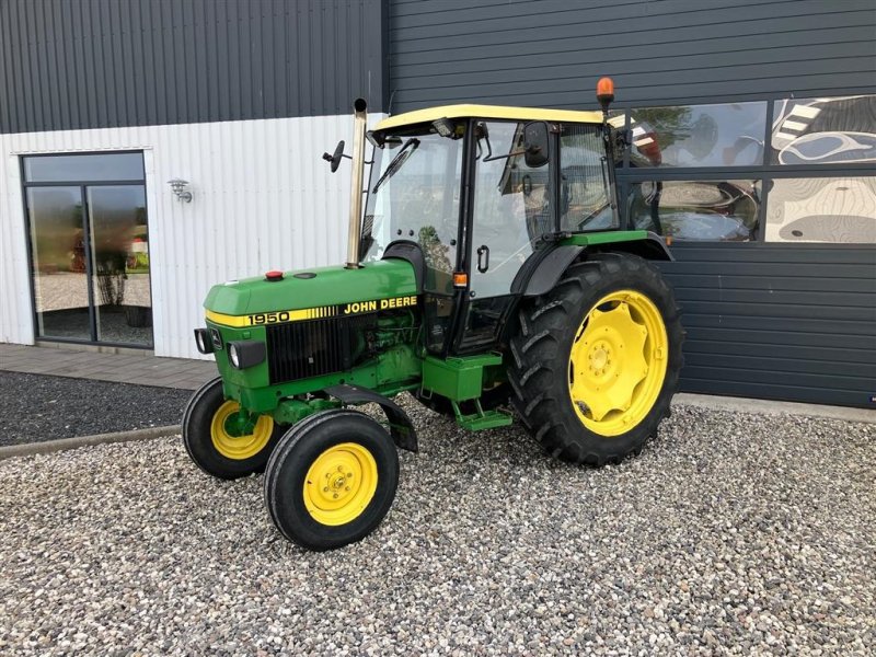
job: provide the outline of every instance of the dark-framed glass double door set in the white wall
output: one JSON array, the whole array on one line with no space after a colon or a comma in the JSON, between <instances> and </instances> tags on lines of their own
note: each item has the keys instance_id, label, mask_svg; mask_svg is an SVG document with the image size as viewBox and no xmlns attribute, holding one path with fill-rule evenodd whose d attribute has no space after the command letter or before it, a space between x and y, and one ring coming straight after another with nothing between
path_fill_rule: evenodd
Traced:
<instances>
[{"instance_id":1,"label":"dark-framed glass double door set in the white wall","mask_svg":"<svg viewBox=\"0 0 876 657\"><path fill-rule=\"evenodd\" d=\"M152 346L142 153L23 158L37 337Z\"/></svg>"}]
</instances>

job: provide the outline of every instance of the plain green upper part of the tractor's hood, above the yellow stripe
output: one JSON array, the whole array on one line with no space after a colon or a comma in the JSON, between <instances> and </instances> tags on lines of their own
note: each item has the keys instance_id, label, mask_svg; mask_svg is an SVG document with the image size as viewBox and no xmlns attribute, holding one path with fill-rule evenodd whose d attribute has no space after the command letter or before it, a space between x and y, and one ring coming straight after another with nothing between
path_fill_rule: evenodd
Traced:
<instances>
[{"instance_id":1,"label":"plain green upper part of the tractor's hood, above the yellow stripe","mask_svg":"<svg viewBox=\"0 0 876 657\"><path fill-rule=\"evenodd\" d=\"M301 269L313 278L296 278L287 272L283 280L264 276L215 285L204 308L229 315L298 310L388 299L417 293L414 268L401 260L368 263L359 269L343 266Z\"/></svg>"}]
</instances>

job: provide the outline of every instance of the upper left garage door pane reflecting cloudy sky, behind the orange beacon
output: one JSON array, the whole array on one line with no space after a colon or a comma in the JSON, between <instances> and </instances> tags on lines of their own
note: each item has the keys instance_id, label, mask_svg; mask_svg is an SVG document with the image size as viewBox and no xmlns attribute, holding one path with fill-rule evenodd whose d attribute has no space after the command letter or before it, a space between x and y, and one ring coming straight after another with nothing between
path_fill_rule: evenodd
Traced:
<instances>
[{"instance_id":1,"label":"upper left garage door pane reflecting cloudy sky, behind the orange beacon","mask_svg":"<svg viewBox=\"0 0 876 657\"><path fill-rule=\"evenodd\" d=\"M634 166L750 166L763 163L766 103L631 111Z\"/></svg>"}]
</instances>

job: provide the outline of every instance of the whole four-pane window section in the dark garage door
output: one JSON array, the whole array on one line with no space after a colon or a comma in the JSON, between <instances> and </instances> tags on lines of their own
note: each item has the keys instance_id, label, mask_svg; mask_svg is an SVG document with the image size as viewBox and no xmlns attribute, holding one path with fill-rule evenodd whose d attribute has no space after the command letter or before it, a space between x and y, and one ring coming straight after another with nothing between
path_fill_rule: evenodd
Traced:
<instances>
[{"instance_id":1,"label":"whole four-pane window section in the dark garage door","mask_svg":"<svg viewBox=\"0 0 876 657\"><path fill-rule=\"evenodd\" d=\"M633 228L682 241L876 243L876 95L644 107L626 120L618 180Z\"/></svg>"}]
</instances>

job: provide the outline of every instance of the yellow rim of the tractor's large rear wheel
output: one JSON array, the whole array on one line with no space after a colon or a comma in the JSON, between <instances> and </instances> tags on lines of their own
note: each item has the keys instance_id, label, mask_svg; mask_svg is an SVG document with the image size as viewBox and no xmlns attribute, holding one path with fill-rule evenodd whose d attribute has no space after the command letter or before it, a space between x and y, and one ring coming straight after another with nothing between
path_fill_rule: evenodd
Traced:
<instances>
[{"instance_id":1,"label":"yellow rim of the tractor's large rear wheel","mask_svg":"<svg viewBox=\"0 0 876 657\"><path fill-rule=\"evenodd\" d=\"M568 362L568 392L584 426L620 436L645 419L666 378L668 344L660 311L642 292L619 290L597 301Z\"/></svg>"}]
</instances>

